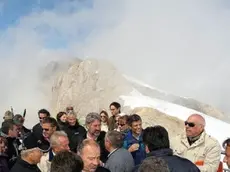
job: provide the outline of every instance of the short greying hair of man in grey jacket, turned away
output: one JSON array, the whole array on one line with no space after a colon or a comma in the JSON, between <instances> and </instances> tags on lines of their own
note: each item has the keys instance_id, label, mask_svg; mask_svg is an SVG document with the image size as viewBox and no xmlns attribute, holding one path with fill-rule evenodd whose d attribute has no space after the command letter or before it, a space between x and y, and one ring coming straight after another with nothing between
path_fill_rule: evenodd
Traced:
<instances>
[{"instance_id":1,"label":"short greying hair of man in grey jacket, turned away","mask_svg":"<svg viewBox=\"0 0 230 172\"><path fill-rule=\"evenodd\" d=\"M124 143L124 136L118 131L108 131L106 138L110 141L113 148L121 148Z\"/></svg>"}]
</instances>

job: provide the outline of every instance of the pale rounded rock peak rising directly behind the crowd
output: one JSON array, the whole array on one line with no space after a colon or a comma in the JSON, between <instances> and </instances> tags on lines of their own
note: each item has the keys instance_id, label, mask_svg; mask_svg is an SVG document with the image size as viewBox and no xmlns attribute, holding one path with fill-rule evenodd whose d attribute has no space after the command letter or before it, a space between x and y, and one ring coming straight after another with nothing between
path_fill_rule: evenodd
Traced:
<instances>
[{"instance_id":1,"label":"pale rounded rock peak rising directly behind the crowd","mask_svg":"<svg viewBox=\"0 0 230 172\"><path fill-rule=\"evenodd\" d=\"M108 108L112 101L130 90L129 82L110 63L85 60L58 77L52 88L52 107L58 112L71 105L81 118Z\"/></svg>"}]
</instances>

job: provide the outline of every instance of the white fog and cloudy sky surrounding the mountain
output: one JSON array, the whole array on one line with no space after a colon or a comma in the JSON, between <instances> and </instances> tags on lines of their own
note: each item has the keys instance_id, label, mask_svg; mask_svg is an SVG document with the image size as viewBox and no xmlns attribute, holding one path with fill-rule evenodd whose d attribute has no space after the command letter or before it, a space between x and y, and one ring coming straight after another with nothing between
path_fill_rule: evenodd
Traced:
<instances>
[{"instance_id":1,"label":"white fog and cloudy sky surrounding the mountain","mask_svg":"<svg viewBox=\"0 0 230 172\"><path fill-rule=\"evenodd\" d=\"M154 87L230 112L228 0L58 0L49 9L41 1L0 30L2 112L48 108L38 69L72 57L108 59Z\"/></svg>"}]
</instances>

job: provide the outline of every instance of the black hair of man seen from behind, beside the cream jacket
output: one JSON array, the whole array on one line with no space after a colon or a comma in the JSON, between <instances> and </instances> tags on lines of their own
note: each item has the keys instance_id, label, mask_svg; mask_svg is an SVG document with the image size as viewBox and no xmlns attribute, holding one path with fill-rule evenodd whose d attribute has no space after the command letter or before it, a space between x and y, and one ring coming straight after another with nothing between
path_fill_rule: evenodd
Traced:
<instances>
[{"instance_id":1,"label":"black hair of man seen from behind, beside the cream jacket","mask_svg":"<svg viewBox=\"0 0 230 172\"><path fill-rule=\"evenodd\" d=\"M147 127L143 132L143 142L149 151L169 148L169 136L167 130L160 126Z\"/></svg>"}]
</instances>

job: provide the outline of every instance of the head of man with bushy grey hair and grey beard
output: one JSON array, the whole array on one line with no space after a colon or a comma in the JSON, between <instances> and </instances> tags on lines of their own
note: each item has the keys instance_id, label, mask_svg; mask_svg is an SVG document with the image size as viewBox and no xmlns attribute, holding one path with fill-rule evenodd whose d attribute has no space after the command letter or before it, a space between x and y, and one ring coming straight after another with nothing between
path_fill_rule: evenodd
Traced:
<instances>
[{"instance_id":1,"label":"head of man with bushy grey hair and grey beard","mask_svg":"<svg viewBox=\"0 0 230 172\"><path fill-rule=\"evenodd\" d=\"M85 125L88 133L92 136L98 137L101 132L101 117L96 112L91 112L86 116Z\"/></svg>"}]
</instances>

